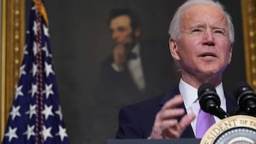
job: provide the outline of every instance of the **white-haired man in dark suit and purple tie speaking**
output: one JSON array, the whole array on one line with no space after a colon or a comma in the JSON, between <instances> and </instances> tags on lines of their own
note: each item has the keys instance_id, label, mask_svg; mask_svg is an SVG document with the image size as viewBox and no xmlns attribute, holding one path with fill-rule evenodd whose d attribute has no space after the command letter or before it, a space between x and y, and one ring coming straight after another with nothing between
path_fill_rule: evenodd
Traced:
<instances>
[{"instance_id":1,"label":"white-haired man in dark suit and purple tie speaking","mask_svg":"<svg viewBox=\"0 0 256 144\"><path fill-rule=\"evenodd\" d=\"M171 92L126 106L119 112L116 138L201 138L198 87L213 84L220 107L228 113L237 104L223 90L222 74L231 61L234 28L223 6L211 0L186 1L169 28L171 55L181 80ZM208 113L206 113L208 114ZM213 123L220 121L213 117Z\"/></svg>"}]
</instances>

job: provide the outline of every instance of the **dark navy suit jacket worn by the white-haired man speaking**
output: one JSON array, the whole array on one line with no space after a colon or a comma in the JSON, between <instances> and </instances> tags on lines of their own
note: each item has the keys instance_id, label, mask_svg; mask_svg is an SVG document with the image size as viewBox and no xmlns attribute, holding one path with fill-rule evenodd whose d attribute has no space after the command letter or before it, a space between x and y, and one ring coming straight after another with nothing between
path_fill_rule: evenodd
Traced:
<instances>
[{"instance_id":1,"label":"dark navy suit jacket worn by the white-haired man speaking","mask_svg":"<svg viewBox=\"0 0 256 144\"><path fill-rule=\"evenodd\" d=\"M155 96L146 101L122 108L119 111L119 128L116 138L149 138L156 113L160 111L166 101L176 94L180 94L178 86L168 94ZM238 107L235 99L226 93L225 99L227 101L227 112L233 113ZM179 107L185 109L184 104ZM180 119L181 117L178 118L178 120ZM191 125L186 128L181 138L195 138Z\"/></svg>"}]
</instances>

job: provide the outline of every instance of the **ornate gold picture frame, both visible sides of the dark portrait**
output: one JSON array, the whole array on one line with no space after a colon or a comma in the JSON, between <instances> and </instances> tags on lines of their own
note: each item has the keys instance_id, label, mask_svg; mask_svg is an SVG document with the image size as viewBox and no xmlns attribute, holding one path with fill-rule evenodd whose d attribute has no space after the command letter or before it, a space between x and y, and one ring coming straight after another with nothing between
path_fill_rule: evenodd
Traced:
<instances>
[{"instance_id":1,"label":"ornate gold picture frame, both visible sides of the dark portrait","mask_svg":"<svg viewBox=\"0 0 256 144\"><path fill-rule=\"evenodd\" d=\"M25 2L1 0L0 47L0 138L13 102L25 44ZM256 0L240 0L247 82L256 89Z\"/></svg>"}]
</instances>

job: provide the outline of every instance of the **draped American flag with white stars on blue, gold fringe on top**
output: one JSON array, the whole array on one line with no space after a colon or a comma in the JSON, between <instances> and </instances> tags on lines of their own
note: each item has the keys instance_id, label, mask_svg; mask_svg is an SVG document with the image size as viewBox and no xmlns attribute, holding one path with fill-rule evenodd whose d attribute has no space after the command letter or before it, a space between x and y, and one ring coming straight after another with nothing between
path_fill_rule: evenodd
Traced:
<instances>
[{"instance_id":1,"label":"draped American flag with white stars on blue, gold fringe on top","mask_svg":"<svg viewBox=\"0 0 256 144\"><path fill-rule=\"evenodd\" d=\"M48 18L41 0L33 0L23 62L4 144L67 144L53 70Z\"/></svg>"}]
</instances>

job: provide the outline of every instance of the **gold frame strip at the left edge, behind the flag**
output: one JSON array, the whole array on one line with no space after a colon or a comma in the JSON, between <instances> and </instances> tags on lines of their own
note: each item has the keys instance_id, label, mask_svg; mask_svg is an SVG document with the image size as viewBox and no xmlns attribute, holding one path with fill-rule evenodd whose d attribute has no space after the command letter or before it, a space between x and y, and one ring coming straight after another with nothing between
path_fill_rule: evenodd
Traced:
<instances>
[{"instance_id":1,"label":"gold frame strip at the left edge, behind the flag","mask_svg":"<svg viewBox=\"0 0 256 144\"><path fill-rule=\"evenodd\" d=\"M1 0L1 141L23 58L24 25L25 1Z\"/></svg>"}]
</instances>

